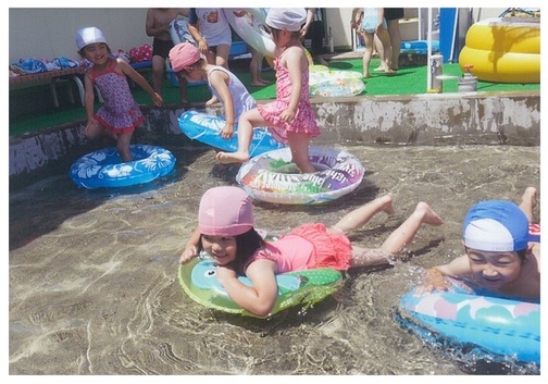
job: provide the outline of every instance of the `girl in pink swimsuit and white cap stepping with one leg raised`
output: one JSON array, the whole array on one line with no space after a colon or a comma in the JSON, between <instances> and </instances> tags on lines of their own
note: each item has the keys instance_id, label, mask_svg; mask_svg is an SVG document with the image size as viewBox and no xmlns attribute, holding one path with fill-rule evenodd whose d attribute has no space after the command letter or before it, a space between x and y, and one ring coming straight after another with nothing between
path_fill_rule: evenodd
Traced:
<instances>
[{"instance_id":1,"label":"girl in pink swimsuit and white cap stepping with one leg raised","mask_svg":"<svg viewBox=\"0 0 548 384\"><path fill-rule=\"evenodd\" d=\"M244 113L238 122L238 150L219 152L223 163L249 160L253 128L267 126L281 143L288 144L292 161L302 173L316 170L309 159L310 138L320 135L309 97L309 61L300 39L300 29L307 18L303 8L272 8L266 25L278 52L276 71L276 101L259 104Z\"/></svg>"}]
</instances>

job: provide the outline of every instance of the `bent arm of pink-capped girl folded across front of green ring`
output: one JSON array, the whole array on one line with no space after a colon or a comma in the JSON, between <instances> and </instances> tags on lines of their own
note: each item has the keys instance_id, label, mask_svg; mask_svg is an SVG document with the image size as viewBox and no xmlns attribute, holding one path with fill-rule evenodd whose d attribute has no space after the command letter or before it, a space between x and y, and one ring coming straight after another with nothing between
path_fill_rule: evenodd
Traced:
<instances>
[{"instance_id":1,"label":"bent arm of pink-capped girl folded across front of green ring","mask_svg":"<svg viewBox=\"0 0 548 384\"><path fill-rule=\"evenodd\" d=\"M251 287L238 281L236 272L227 267L217 267L217 278L238 306L259 317L266 317L277 297L275 271L274 261L261 259L253 261L246 271Z\"/></svg>"}]
</instances>

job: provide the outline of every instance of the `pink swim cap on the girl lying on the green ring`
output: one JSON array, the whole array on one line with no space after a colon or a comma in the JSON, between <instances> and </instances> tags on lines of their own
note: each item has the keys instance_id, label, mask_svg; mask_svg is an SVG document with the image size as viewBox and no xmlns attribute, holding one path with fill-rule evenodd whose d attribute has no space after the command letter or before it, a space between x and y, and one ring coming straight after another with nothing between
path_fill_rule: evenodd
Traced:
<instances>
[{"instance_id":1,"label":"pink swim cap on the girl lying on the green ring","mask_svg":"<svg viewBox=\"0 0 548 384\"><path fill-rule=\"evenodd\" d=\"M208 189L200 200L198 224L202 235L241 235L253 227L251 199L238 187Z\"/></svg>"}]
</instances>

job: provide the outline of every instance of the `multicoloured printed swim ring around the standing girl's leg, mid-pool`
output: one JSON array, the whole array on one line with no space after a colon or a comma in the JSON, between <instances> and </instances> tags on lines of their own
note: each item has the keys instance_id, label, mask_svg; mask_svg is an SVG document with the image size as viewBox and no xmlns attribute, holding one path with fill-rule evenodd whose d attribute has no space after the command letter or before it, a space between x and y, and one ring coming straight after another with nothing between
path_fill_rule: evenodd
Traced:
<instances>
[{"instance_id":1,"label":"multicoloured printed swim ring around the standing girl's leg, mid-pool","mask_svg":"<svg viewBox=\"0 0 548 384\"><path fill-rule=\"evenodd\" d=\"M245 162L236 181L259 201L316 205L349 194L363 178L360 161L342 149L310 147L310 161L319 171L300 173L289 148L269 151Z\"/></svg>"}]
</instances>

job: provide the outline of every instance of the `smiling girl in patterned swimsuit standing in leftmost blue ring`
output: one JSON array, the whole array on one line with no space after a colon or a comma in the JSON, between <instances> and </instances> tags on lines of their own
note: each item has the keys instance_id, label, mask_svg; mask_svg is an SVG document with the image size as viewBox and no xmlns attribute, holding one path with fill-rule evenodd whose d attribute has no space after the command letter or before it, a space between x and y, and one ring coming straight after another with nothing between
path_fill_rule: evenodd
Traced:
<instances>
[{"instance_id":1,"label":"smiling girl in patterned swimsuit standing in leftmost blue ring","mask_svg":"<svg viewBox=\"0 0 548 384\"><path fill-rule=\"evenodd\" d=\"M76 46L84 59L94 65L84 75L87 124L85 135L89 140L107 134L116 141L124 162L133 161L129 150L133 132L142 124L145 116L133 98L127 78L132 78L151 97L154 106L161 107L162 97L137 71L122 59L113 59L102 32L96 27L82 28L76 34ZM104 99L97 113L94 109L94 86Z\"/></svg>"}]
</instances>

